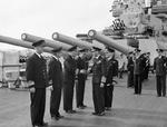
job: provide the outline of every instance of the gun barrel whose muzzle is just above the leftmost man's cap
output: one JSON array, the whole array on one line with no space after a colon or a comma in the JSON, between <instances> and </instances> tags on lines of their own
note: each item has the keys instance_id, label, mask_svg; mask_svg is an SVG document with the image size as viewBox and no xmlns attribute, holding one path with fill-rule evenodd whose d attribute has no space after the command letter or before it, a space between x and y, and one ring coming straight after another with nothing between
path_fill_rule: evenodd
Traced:
<instances>
[{"instance_id":1,"label":"gun barrel whose muzzle is just above the leftmost man's cap","mask_svg":"<svg viewBox=\"0 0 167 127\"><path fill-rule=\"evenodd\" d=\"M22 33L21 39L24 40L24 41L29 41L29 42L36 42L38 40L45 40L46 46L51 47L51 48L56 48L56 49L62 47L62 50L68 50L69 48L72 47L72 46L67 45L67 43L49 40L49 39L46 39L46 38L32 36L32 35L29 35L29 33Z\"/></svg>"}]
</instances>

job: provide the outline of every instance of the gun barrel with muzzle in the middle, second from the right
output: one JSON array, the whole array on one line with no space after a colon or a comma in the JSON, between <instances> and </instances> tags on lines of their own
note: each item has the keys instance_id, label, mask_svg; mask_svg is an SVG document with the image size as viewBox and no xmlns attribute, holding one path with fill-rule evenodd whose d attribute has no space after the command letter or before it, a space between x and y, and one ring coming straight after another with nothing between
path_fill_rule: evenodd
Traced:
<instances>
[{"instance_id":1,"label":"gun barrel with muzzle in the middle, second from the right","mask_svg":"<svg viewBox=\"0 0 167 127\"><path fill-rule=\"evenodd\" d=\"M65 42L65 43L68 43L68 45L78 46L80 48L86 48L86 49L91 49L91 47L92 47L92 43L89 43L87 41L79 40L79 39L76 39L76 38L71 38L71 37L61 35L59 32L53 32L52 33L52 39Z\"/></svg>"}]
</instances>

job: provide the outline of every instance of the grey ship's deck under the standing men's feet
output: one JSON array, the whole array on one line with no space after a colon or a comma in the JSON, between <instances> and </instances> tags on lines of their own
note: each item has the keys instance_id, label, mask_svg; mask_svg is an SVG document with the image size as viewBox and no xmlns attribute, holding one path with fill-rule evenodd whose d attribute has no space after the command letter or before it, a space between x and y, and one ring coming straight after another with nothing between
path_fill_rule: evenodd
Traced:
<instances>
[{"instance_id":1,"label":"grey ship's deck under the standing men's feet","mask_svg":"<svg viewBox=\"0 0 167 127\"><path fill-rule=\"evenodd\" d=\"M127 88L126 75L117 79L114 90L112 110L106 116L92 116L91 79L86 85L86 109L77 109L77 114L60 113L65 116L60 120L51 120L49 115L49 96L47 90L45 121L49 127L167 127L167 98L156 96L155 75L144 82L143 94L134 95L134 89ZM0 127L31 127L30 98L28 91L16 91L7 88L0 89ZM76 100L73 100L76 109Z\"/></svg>"}]
</instances>

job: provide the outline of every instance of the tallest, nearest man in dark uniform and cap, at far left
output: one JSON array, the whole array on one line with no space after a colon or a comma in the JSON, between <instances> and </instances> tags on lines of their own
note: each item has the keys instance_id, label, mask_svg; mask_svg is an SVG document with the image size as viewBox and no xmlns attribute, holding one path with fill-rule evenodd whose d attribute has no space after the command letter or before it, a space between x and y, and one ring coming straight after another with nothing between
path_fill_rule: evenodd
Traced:
<instances>
[{"instance_id":1,"label":"tallest, nearest man in dark uniform and cap, at far left","mask_svg":"<svg viewBox=\"0 0 167 127\"><path fill-rule=\"evenodd\" d=\"M31 123L33 127L47 126L43 121L46 107L46 87L48 86L47 65L41 56L45 40L32 43L36 52L27 60L27 81L30 88L31 98Z\"/></svg>"}]
</instances>

